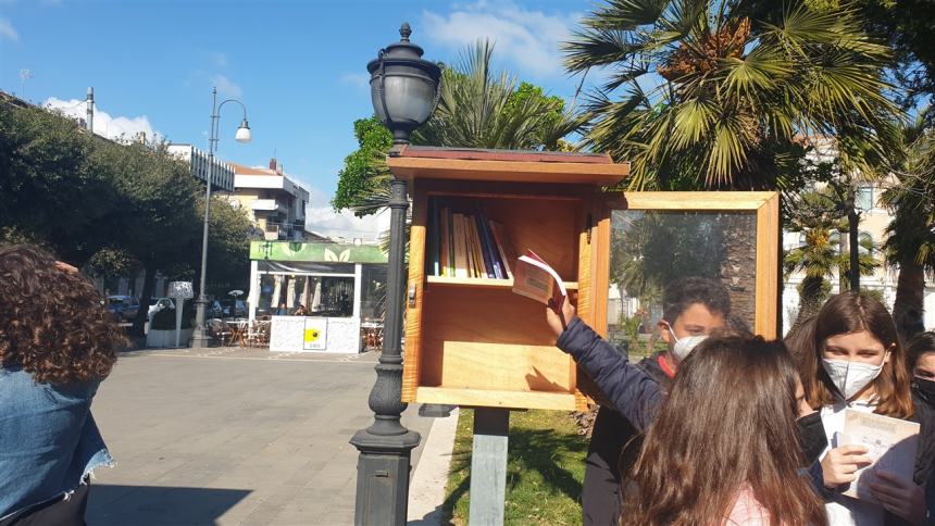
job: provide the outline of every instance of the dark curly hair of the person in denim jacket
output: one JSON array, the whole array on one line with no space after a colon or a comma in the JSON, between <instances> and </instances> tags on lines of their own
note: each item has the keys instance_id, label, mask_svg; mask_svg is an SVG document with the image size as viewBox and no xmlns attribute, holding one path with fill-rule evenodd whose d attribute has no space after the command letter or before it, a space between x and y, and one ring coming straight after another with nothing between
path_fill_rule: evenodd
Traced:
<instances>
[{"instance_id":1,"label":"dark curly hair of the person in denim jacket","mask_svg":"<svg viewBox=\"0 0 935 526\"><path fill-rule=\"evenodd\" d=\"M101 380L126 341L91 284L35 247L0 246L0 363L39 384Z\"/></svg>"}]
</instances>

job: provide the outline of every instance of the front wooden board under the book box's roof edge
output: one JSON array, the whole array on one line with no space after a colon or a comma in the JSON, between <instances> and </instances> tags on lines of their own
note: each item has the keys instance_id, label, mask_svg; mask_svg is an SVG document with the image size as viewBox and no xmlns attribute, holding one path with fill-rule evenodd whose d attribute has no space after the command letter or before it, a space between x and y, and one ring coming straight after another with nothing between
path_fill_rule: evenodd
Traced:
<instances>
[{"instance_id":1,"label":"front wooden board under the book box's roof edge","mask_svg":"<svg viewBox=\"0 0 935 526\"><path fill-rule=\"evenodd\" d=\"M629 175L629 163L544 163L388 156L390 172L403 179L497 180L613 186Z\"/></svg>"}]
</instances>

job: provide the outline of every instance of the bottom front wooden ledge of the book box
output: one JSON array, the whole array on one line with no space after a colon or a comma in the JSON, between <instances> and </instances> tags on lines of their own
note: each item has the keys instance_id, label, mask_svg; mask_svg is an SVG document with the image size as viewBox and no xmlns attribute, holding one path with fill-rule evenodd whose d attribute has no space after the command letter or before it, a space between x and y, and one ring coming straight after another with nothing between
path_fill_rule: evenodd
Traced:
<instances>
[{"instance_id":1,"label":"bottom front wooden ledge of the book box","mask_svg":"<svg viewBox=\"0 0 935 526\"><path fill-rule=\"evenodd\" d=\"M575 396L557 391L507 391L467 389L458 387L419 387L415 392L419 403L446 403L466 406L506 409L548 409L574 411Z\"/></svg>"}]
</instances>

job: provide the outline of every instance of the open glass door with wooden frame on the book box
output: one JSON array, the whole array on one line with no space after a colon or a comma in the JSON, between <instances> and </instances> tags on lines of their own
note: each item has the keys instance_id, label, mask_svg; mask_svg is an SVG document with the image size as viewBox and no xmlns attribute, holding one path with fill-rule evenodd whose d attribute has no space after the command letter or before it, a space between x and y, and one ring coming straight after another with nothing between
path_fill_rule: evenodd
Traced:
<instances>
[{"instance_id":1,"label":"open glass door with wooden frame on the book box","mask_svg":"<svg viewBox=\"0 0 935 526\"><path fill-rule=\"evenodd\" d=\"M595 328L622 351L661 350L666 286L713 280L730 297L728 326L775 338L778 306L776 192L623 192L597 225Z\"/></svg>"}]
</instances>

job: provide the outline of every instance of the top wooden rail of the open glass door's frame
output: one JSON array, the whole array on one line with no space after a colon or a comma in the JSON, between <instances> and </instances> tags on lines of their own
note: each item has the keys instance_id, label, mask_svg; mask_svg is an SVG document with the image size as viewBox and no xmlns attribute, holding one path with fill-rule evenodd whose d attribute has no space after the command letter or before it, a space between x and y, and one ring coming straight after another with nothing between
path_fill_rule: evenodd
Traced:
<instances>
[{"instance_id":1,"label":"top wooden rail of the open glass door's frame","mask_svg":"<svg viewBox=\"0 0 935 526\"><path fill-rule=\"evenodd\" d=\"M772 191L635 191L618 195L610 204L629 210L758 210Z\"/></svg>"}]
</instances>

